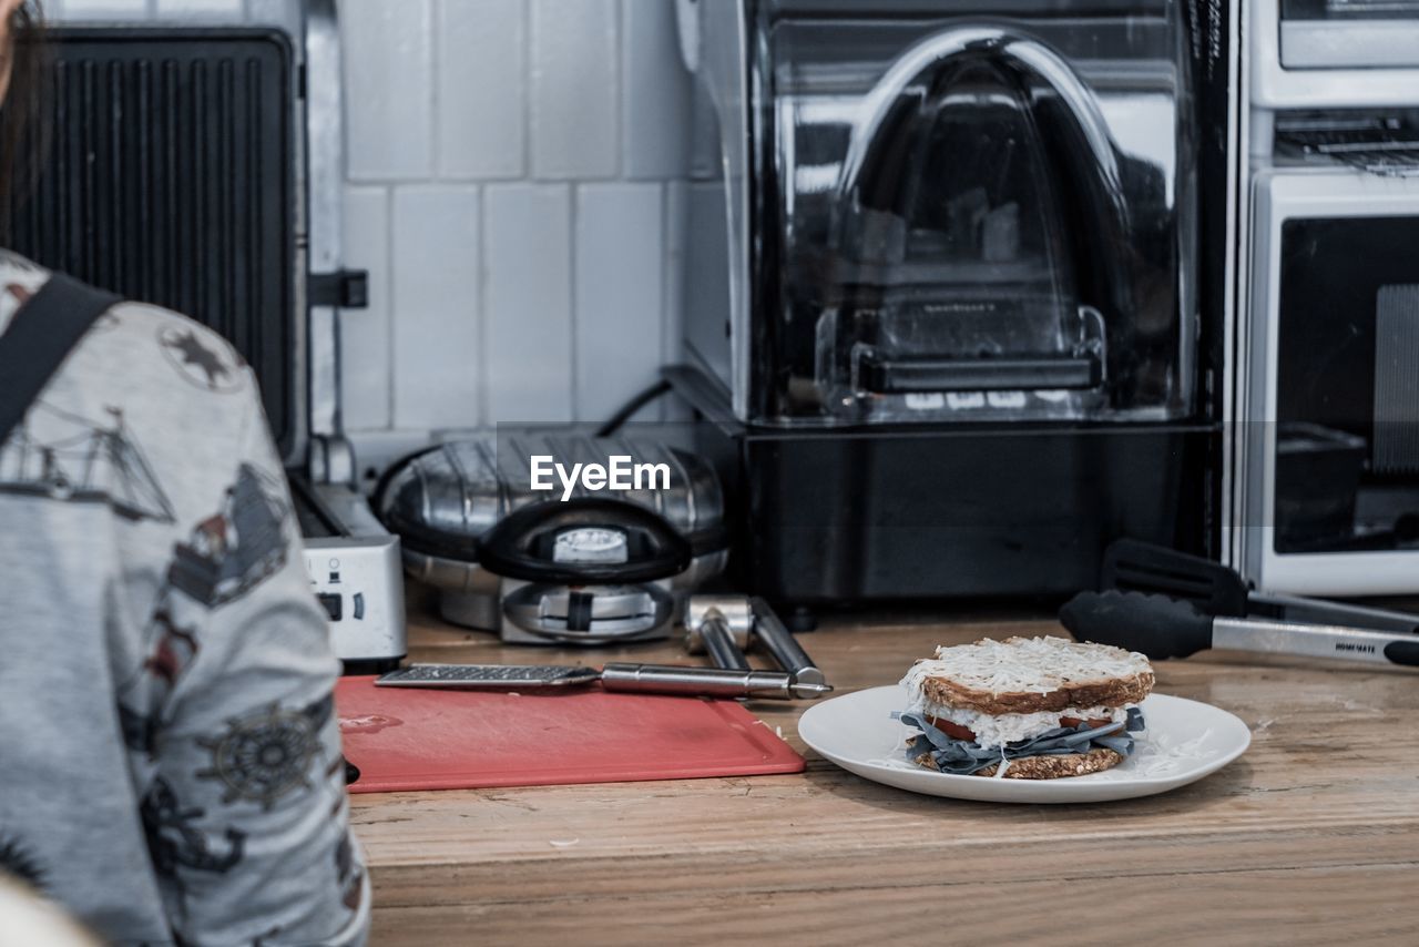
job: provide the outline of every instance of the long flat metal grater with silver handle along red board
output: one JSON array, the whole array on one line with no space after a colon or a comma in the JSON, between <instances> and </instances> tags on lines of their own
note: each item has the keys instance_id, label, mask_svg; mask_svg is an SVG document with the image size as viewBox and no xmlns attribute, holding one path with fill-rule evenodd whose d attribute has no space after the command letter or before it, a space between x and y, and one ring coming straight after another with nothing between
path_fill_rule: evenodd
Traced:
<instances>
[{"instance_id":1,"label":"long flat metal grater with silver handle along red board","mask_svg":"<svg viewBox=\"0 0 1419 947\"><path fill-rule=\"evenodd\" d=\"M595 667L555 664L410 664L376 680L379 687L443 690L518 690L572 687L600 681L604 690L681 697L745 697L797 700L832 693L829 684L797 683L768 670L675 667L673 664L609 663Z\"/></svg>"}]
</instances>

